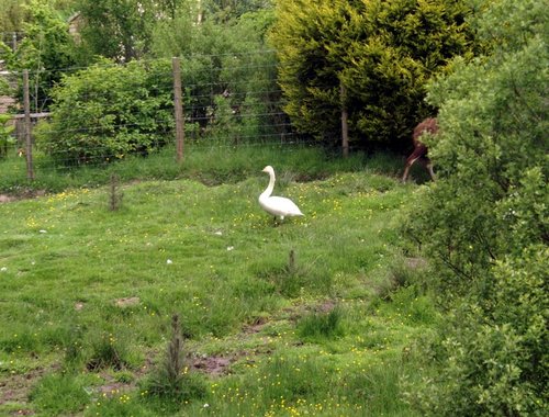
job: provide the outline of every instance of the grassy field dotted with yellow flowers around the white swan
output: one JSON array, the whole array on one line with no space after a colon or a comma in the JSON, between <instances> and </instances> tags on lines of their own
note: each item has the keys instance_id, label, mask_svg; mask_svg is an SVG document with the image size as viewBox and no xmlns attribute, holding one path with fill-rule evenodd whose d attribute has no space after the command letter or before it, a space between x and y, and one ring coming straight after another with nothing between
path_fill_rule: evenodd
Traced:
<instances>
[{"instance_id":1,"label":"grassy field dotted with yellow flowers around the white swan","mask_svg":"<svg viewBox=\"0 0 549 417\"><path fill-rule=\"evenodd\" d=\"M414 416L400 381L436 313L402 285L423 271L402 255L400 161L160 160L44 171L57 192L0 204L0 415ZM260 210L267 164L304 217Z\"/></svg>"}]
</instances>

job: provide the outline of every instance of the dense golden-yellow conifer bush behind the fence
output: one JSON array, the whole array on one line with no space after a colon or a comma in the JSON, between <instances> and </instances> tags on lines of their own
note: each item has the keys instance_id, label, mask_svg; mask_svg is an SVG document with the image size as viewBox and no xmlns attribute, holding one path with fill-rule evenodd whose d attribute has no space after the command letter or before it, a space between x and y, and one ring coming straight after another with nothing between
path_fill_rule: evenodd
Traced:
<instances>
[{"instance_id":1,"label":"dense golden-yellow conifer bush behind the fence","mask_svg":"<svg viewBox=\"0 0 549 417\"><path fill-rule=\"evenodd\" d=\"M344 105L361 145L406 147L412 127L434 112L426 82L474 49L469 14L448 0L280 1L271 42L284 110L301 132L337 140Z\"/></svg>"}]
</instances>

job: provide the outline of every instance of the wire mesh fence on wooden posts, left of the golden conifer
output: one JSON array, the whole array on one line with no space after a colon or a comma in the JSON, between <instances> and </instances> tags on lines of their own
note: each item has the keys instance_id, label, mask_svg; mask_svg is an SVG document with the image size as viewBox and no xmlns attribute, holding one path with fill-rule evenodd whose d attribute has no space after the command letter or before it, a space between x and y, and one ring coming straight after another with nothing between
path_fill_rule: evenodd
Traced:
<instances>
[{"instance_id":1,"label":"wire mesh fence on wooden posts, left of the golden conifer","mask_svg":"<svg viewBox=\"0 0 549 417\"><path fill-rule=\"evenodd\" d=\"M183 142L216 148L302 143L283 112L276 74L272 50L9 72L16 101L10 117L0 119L1 176L20 174L23 160L26 178L40 179L48 170L166 149L176 164L184 158Z\"/></svg>"}]
</instances>

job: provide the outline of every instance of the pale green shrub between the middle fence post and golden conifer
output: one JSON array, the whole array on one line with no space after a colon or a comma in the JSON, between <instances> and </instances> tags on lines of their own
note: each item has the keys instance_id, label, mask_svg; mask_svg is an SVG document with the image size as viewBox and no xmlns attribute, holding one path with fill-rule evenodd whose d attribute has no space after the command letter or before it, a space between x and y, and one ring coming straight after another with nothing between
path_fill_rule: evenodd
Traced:
<instances>
[{"instance_id":1,"label":"pale green shrub between the middle fence post and golden conifer","mask_svg":"<svg viewBox=\"0 0 549 417\"><path fill-rule=\"evenodd\" d=\"M172 20L158 22L153 50L157 57L181 57L188 115L203 128L201 138L240 144L284 133L276 56L265 43L272 11L248 12L225 24L214 18L195 24L197 14L191 1Z\"/></svg>"}]
</instances>

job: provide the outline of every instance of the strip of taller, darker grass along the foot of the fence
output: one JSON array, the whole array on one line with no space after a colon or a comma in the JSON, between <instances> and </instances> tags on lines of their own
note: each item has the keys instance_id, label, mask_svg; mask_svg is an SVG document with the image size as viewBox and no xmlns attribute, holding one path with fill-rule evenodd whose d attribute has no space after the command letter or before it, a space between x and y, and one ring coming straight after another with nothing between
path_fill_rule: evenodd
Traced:
<instances>
[{"instance_id":1,"label":"strip of taller, darker grass along the foot of the fence","mask_svg":"<svg viewBox=\"0 0 549 417\"><path fill-rule=\"evenodd\" d=\"M208 146L195 143L186 146L182 164L176 162L172 147L166 147L147 158L127 157L124 160L77 168L56 167L40 150L34 151L34 181L26 179L25 158L14 151L0 158L0 192L25 194L33 190L60 192L68 188L96 188L110 182L113 174L121 181L145 179L195 179L213 185L234 183L256 176L267 165L276 165L283 172L282 182L322 179L335 172L369 171L399 174L402 160L390 154L366 158L355 154L341 159L335 153L307 145L243 145ZM274 164L273 161L277 161Z\"/></svg>"}]
</instances>

